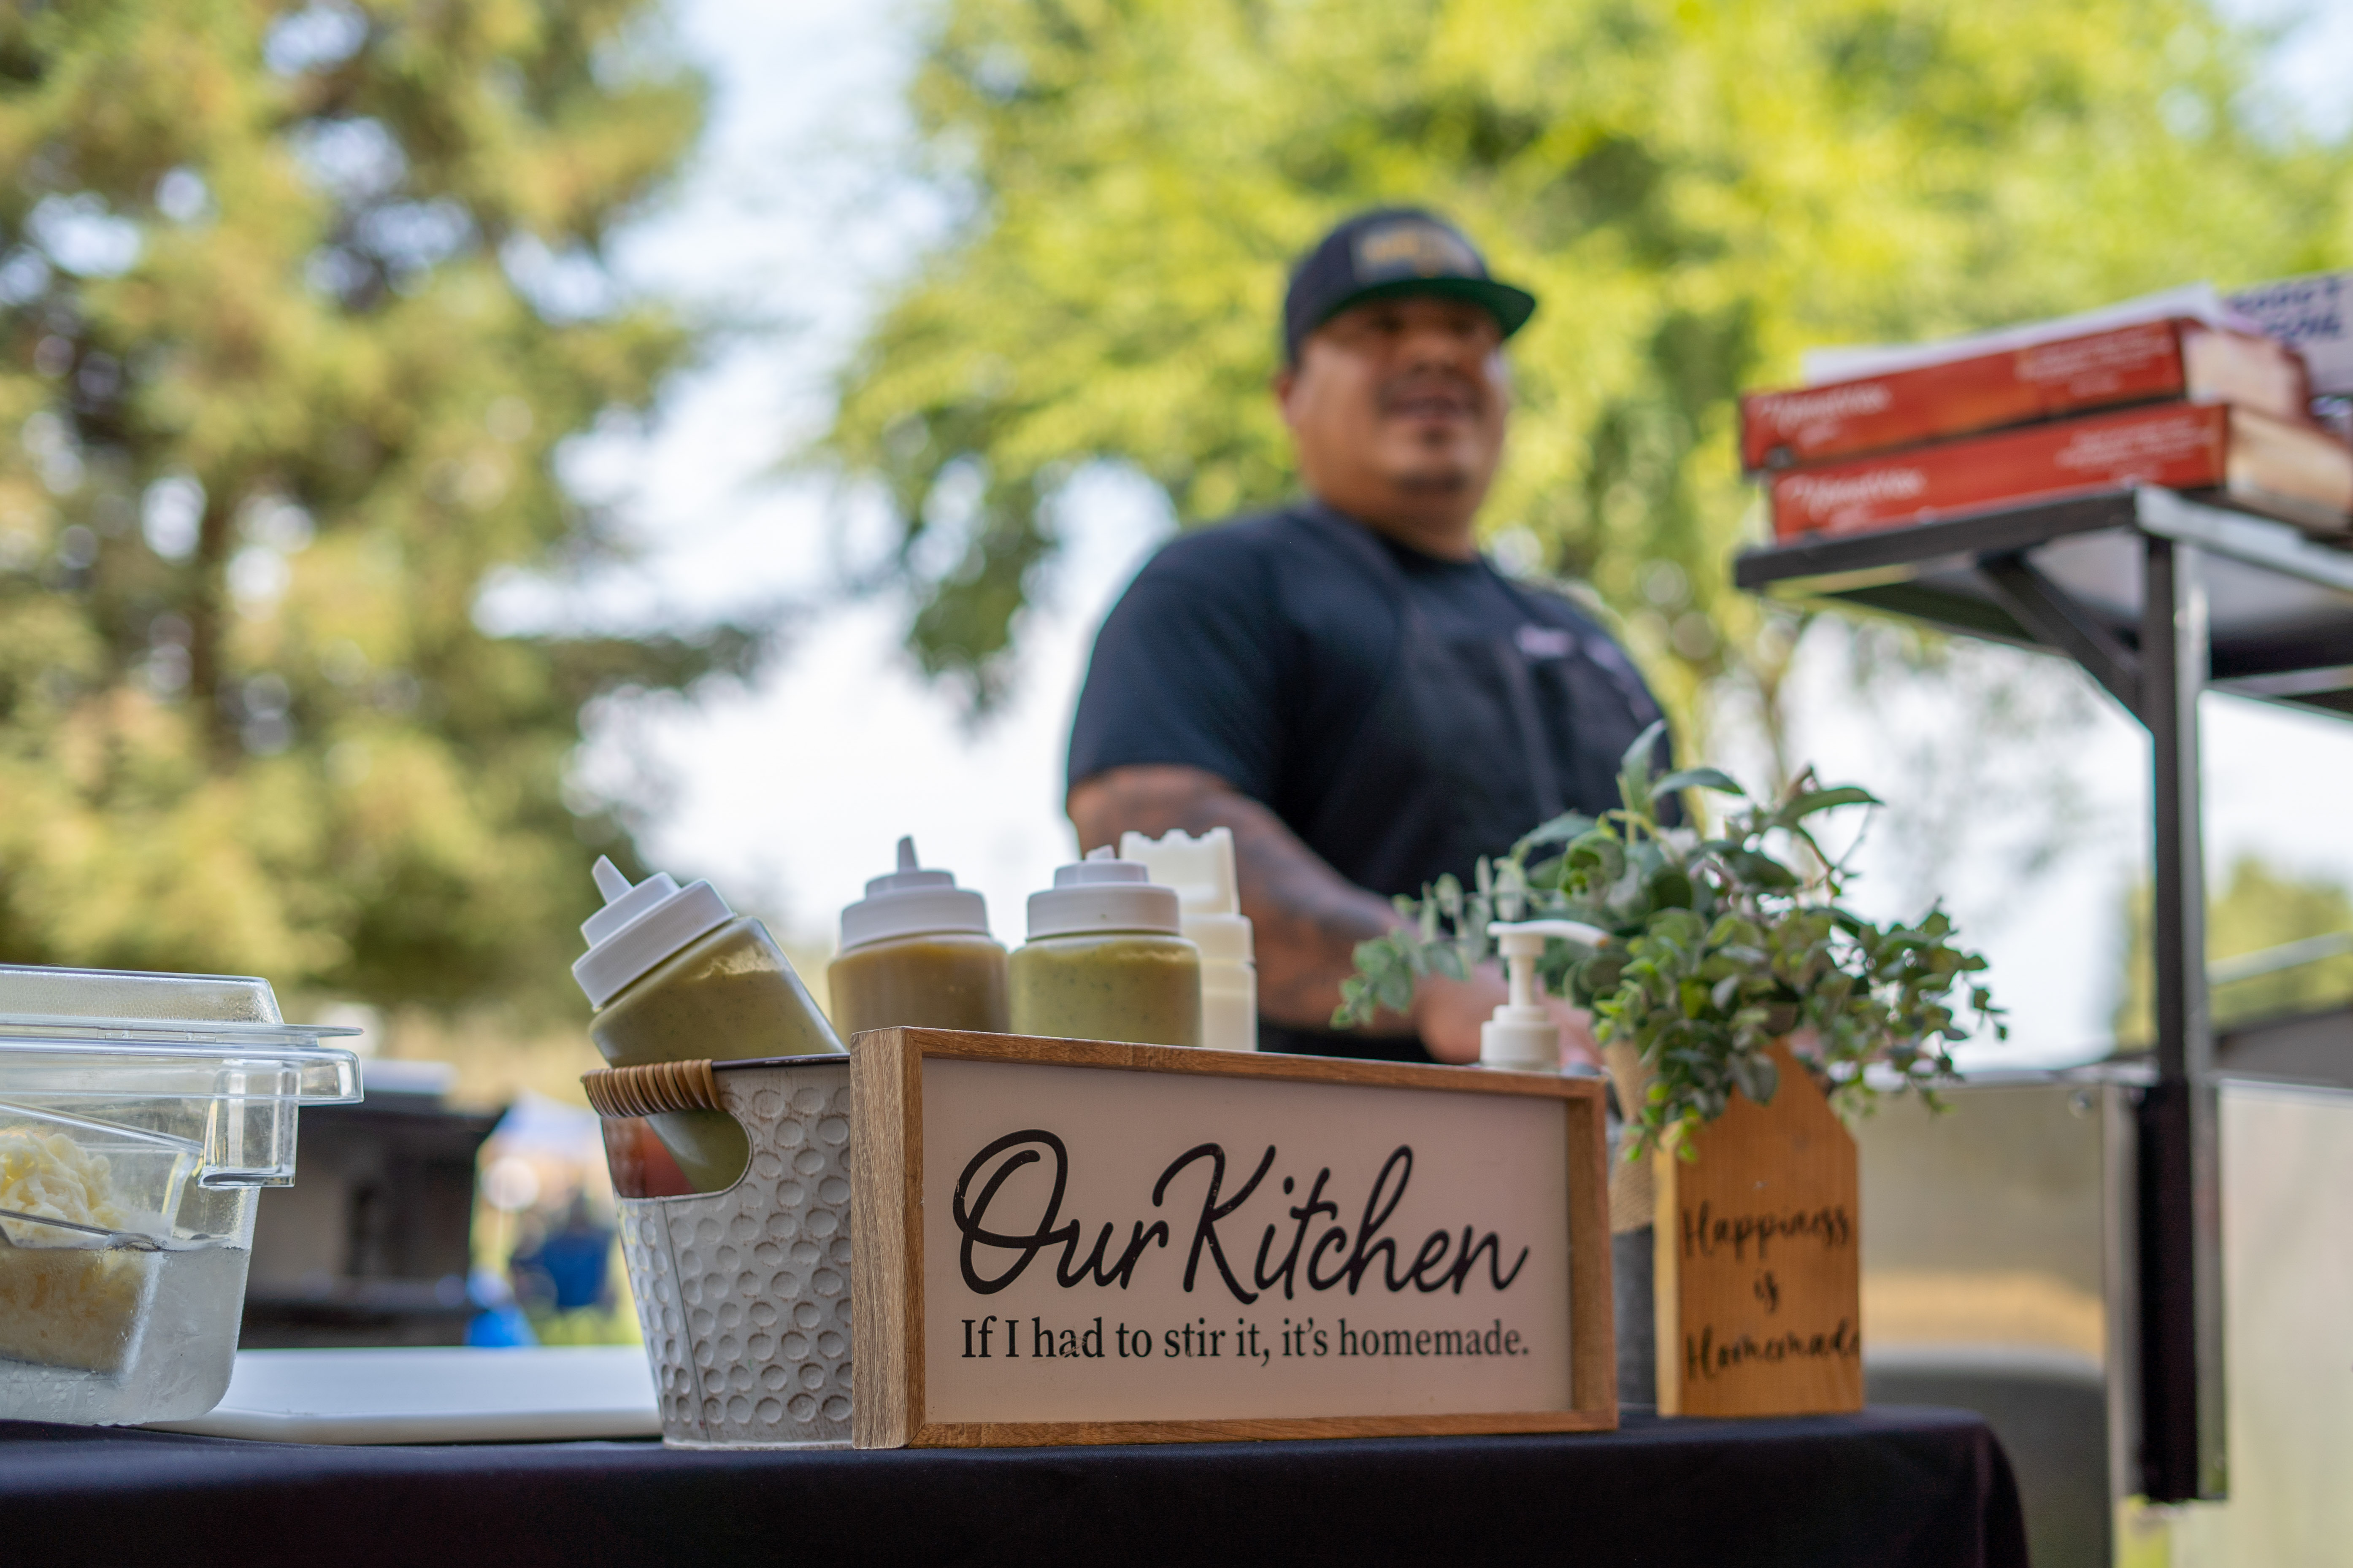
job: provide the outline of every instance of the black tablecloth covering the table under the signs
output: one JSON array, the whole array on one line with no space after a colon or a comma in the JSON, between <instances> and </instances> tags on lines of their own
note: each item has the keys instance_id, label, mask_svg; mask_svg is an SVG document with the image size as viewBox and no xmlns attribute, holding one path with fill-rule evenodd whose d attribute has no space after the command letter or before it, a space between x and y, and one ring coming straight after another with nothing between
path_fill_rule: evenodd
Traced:
<instances>
[{"instance_id":1,"label":"black tablecloth covering the table under the signs","mask_svg":"<svg viewBox=\"0 0 2353 1568\"><path fill-rule=\"evenodd\" d=\"M0 1422L0 1563L2014 1568L1962 1410L1609 1434L666 1453L299 1448Z\"/></svg>"}]
</instances>

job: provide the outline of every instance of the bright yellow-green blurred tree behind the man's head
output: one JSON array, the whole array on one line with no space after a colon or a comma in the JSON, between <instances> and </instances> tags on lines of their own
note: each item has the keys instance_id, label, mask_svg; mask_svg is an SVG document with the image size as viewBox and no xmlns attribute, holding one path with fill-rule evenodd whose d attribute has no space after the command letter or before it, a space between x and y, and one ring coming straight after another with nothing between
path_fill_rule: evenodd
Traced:
<instances>
[{"instance_id":1,"label":"bright yellow-green blurred tree behind the man's head","mask_svg":"<svg viewBox=\"0 0 2353 1568\"><path fill-rule=\"evenodd\" d=\"M2200 0L946 0L913 103L969 216L824 454L899 517L915 656L986 703L1085 527L1068 475L1125 463L1184 524L1280 498L1287 261L1431 202L1544 296L1487 527L1624 616L1687 729L1734 677L1774 731L1802 623L1727 581L1734 393L1814 343L2341 266L2341 148L2249 108L2254 47Z\"/></svg>"}]
</instances>

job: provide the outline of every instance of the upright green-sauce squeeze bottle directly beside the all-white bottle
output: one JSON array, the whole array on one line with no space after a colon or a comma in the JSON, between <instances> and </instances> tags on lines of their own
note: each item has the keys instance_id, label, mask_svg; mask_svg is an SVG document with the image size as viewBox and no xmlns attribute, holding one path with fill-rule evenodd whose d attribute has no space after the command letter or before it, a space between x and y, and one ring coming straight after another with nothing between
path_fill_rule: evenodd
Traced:
<instances>
[{"instance_id":1,"label":"upright green-sauce squeeze bottle directly beside the all-white bottle","mask_svg":"<svg viewBox=\"0 0 2353 1568\"><path fill-rule=\"evenodd\" d=\"M1176 893L1111 846L1031 893L1012 957L1014 1034L1200 1044L1200 950L1176 929Z\"/></svg>"}]
</instances>

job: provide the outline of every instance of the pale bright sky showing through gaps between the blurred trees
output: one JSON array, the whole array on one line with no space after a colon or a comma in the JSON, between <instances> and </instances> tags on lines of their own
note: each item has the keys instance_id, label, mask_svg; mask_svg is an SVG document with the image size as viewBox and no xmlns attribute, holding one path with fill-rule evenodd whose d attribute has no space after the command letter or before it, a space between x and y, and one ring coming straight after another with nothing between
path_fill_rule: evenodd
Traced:
<instances>
[{"instance_id":1,"label":"pale bright sky showing through gaps between the blurred trees","mask_svg":"<svg viewBox=\"0 0 2353 1568\"><path fill-rule=\"evenodd\" d=\"M2287 26L2271 92L2320 127L2353 120L2353 0L2228 9ZM2297 14L2306 21L2289 26ZM831 947L835 912L889 870L904 832L925 865L986 893L1000 940L1021 938L1024 898L1073 853L1061 759L1087 646L1172 531L1158 494L1085 477L1073 545L1019 628L1012 701L976 726L901 651L901 602L838 590L878 545L875 520L791 454L824 428L875 301L953 219L906 179L901 87L920 16L911 0L675 5L675 45L713 75L713 122L678 195L621 242L619 270L635 289L753 324L722 334L645 428L605 430L565 458L567 480L621 517L638 559L591 581L506 581L482 604L489 625L692 625L788 607L784 646L751 684L600 710L579 773L586 788L649 802L640 846L656 867L711 877L800 952ZM2068 759L1951 736L1932 686L1885 691L1864 712L1833 644L1800 672L1795 750L1826 778L1882 795L1899 792L1906 769L1986 776L1995 809L1967 818L1929 870L1993 959L2014 1027L2000 1060L2080 1060L2106 1048L2120 896L2144 867L2146 741L2089 686L2057 691L2080 682L2057 663L1991 654L1977 672L2082 708ZM2207 698L2202 719L2209 863L2261 853L2353 884L2353 816L2329 788L2353 771L2353 726L2235 698ZM1725 759L1741 771L1755 752L1734 731ZM2045 773L2075 792L2073 851L2021 879L2005 851ZM1857 856L1861 903L1915 914L1899 907L1925 891L1922 867L1901 856L1906 823L1871 832Z\"/></svg>"}]
</instances>

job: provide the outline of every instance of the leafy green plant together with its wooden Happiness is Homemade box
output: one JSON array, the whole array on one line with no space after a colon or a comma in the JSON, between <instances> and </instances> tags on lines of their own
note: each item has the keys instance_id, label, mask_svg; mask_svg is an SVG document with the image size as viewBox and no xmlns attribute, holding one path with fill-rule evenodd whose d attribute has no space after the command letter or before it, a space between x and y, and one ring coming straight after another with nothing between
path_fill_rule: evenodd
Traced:
<instances>
[{"instance_id":1,"label":"leafy green plant together with its wooden Happiness is Homemade box","mask_svg":"<svg viewBox=\"0 0 2353 1568\"><path fill-rule=\"evenodd\" d=\"M1628 748L1614 811L1544 823L1506 856L1480 860L1473 886L1442 877L1421 898L1398 898L1405 924L1358 945L1355 976L1341 983L1332 1023L1351 1027L1384 1006L1402 1011L1424 973L1466 978L1494 954L1494 922L1574 919L1609 933L1598 947L1548 943L1539 973L1551 992L1591 1009L1626 1117L1624 1161L1609 1182L1621 1396L1706 1408L1685 1396L1685 1373L1718 1354L1708 1335L1722 1331L1729 1345L1798 1345L1800 1352L1831 1345L1847 1361L1812 1368L1812 1375L1798 1366L1802 1356L1784 1361L1779 1352L1744 1363L1741 1373L1755 1373L1708 1382L1701 1392L1701 1399L1718 1399L1718 1413L1849 1408L1861 1401L1852 1225L1842 1222L1847 1251L1812 1269L1812 1286L1788 1291L1791 1302L1807 1307L1791 1305L1781 1316L1784 1284L1805 1286L1798 1274L1807 1260L1784 1246L1795 1269L1777 1262L1781 1274L1767 1279L1760 1269L1729 1281L1732 1288L1701 1279L1678 1246L1689 1244L1682 1234L1692 1229L1689 1192L1706 1182L1692 1180L1678 1197L1678 1171L1699 1159L1711 1143L1706 1128L1737 1100L1774 1105L1781 1063L1791 1063L1812 1079L1798 1095L1805 1103L1784 1105L1772 1117L1784 1128L1765 1135L1753 1112L1734 1117L1725 1126L1739 1124L1739 1135L1713 1140L1720 1154L1706 1175L1718 1192L1758 1201L1774 1194L1784 1218L1828 1213L1838 1204L1852 1218L1854 1145L1817 1091L1847 1112L1866 1110L1889 1088L1934 1103L1937 1086L1960 1077L1951 1048L1969 1039L1962 1009L1998 1039L2007 1037L2007 1025L1981 983L1986 959L1953 943L1953 922L1941 907L1913 924L1882 924L1845 903L1849 870L1814 837L1814 825L1840 806L1875 806L1868 790L1821 785L1807 769L1779 799L1758 802L1720 769L1661 776L1649 766L1659 733L1654 726ZM1671 827L1659 816L1682 790L1725 795L1732 806L1713 830ZM1812 1154L1791 1159L1809 1138ZM1842 1147L1826 1150L1831 1143ZM1659 1166L1654 1187L1654 1159L1647 1157L1661 1150L1675 1159ZM1722 1161L1772 1168L1715 1168ZM1824 1180L1831 1187L1821 1187ZM1654 1213L1682 1218L1654 1234ZM1729 1312L1692 1331L1694 1302L1715 1312L1732 1298L1755 1321L1734 1321L1741 1312ZM1791 1321L1805 1309L1831 1326L1793 1331ZM1654 1324L1657 1342L1673 1349L1666 1361L1652 1354ZM1784 1368L1798 1368L1795 1380L1781 1378ZM1760 1380L1779 1385L1727 1394L1732 1385Z\"/></svg>"}]
</instances>

